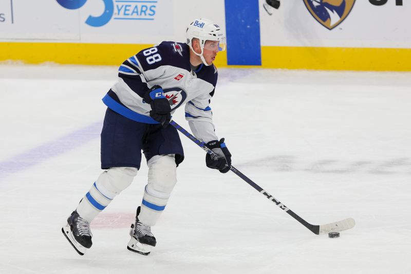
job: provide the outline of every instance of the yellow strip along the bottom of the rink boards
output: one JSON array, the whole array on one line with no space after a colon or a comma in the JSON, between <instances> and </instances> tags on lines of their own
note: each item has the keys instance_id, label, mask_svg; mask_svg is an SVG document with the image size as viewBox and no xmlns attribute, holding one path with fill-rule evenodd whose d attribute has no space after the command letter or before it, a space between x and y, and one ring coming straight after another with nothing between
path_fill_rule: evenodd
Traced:
<instances>
[{"instance_id":1,"label":"yellow strip along the bottom of the rink boards","mask_svg":"<svg viewBox=\"0 0 411 274\"><path fill-rule=\"evenodd\" d=\"M151 46L153 44L3 42L0 43L0 62L117 66ZM411 71L411 49L262 46L261 63L261 66L228 66L226 51L220 52L215 61L217 67Z\"/></svg>"}]
</instances>

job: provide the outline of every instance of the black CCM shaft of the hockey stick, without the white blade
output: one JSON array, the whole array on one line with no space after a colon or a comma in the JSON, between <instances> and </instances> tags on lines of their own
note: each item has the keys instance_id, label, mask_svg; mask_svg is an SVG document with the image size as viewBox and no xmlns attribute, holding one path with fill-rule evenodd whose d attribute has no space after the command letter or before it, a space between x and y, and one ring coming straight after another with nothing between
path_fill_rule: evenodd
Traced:
<instances>
[{"instance_id":1,"label":"black CCM shaft of the hockey stick, without the white blade","mask_svg":"<svg viewBox=\"0 0 411 274\"><path fill-rule=\"evenodd\" d=\"M182 134L184 134L186 137L188 137L190 140L192 140L193 142L195 142L201 149L203 149L205 152L207 152L208 154L212 155L212 156L217 156L216 153L214 153L212 150L210 150L207 145L203 142L201 142L200 140L198 140L196 137L194 137L192 134L190 134L188 131L184 130L179 124L177 124L175 121L171 121L170 122L171 125L173 125L179 132L181 132ZM279 202L279 200L277 200L276 198L274 198L270 193L268 193L267 191L265 191L263 188L261 188L260 186L258 186L257 184L255 184L255 182L253 182L250 178L248 178L246 175L242 174L241 172L239 172L236 168L234 168L233 166L230 167L230 170L232 172L234 172L238 177L240 177L241 179L245 180L247 182L247 184L249 184L250 186L252 186L255 190L257 190L259 193L263 194L264 196L266 196L266 198L268 198L269 200L271 200L271 202L273 202L274 204L276 204L279 208L281 208L282 210L284 210L285 212L287 212L291 217L293 217L295 220L297 220L298 222L300 222L303 226L305 226L306 228L308 228L309 230L311 230L313 233L315 234L319 234L320 233L320 226L317 225L311 225L310 223L307 223L302 217L298 216L297 214L295 214L292 210L290 210L289 208L287 208L283 203Z\"/></svg>"}]
</instances>

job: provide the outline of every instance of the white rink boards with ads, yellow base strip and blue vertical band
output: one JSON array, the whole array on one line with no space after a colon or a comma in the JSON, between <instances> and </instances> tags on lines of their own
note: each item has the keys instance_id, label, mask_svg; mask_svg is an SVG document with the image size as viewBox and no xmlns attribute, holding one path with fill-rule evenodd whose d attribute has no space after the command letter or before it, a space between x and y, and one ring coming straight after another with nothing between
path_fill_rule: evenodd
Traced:
<instances>
[{"instance_id":1,"label":"white rink boards with ads, yellow base strip and blue vertical band","mask_svg":"<svg viewBox=\"0 0 411 274\"><path fill-rule=\"evenodd\" d=\"M340 2L341 18L323 22L307 0L282 1L272 15L265 0L3 1L0 62L118 65L161 41L184 42L186 25L205 17L226 30L218 67L411 70L411 5Z\"/></svg>"}]
</instances>

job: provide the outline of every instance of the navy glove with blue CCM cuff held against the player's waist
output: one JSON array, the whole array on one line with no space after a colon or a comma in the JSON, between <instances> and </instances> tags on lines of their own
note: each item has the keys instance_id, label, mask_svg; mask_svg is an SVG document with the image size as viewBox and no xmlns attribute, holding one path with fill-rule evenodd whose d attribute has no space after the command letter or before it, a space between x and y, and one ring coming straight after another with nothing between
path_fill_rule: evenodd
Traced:
<instances>
[{"instance_id":1,"label":"navy glove with blue CCM cuff held against the player's waist","mask_svg":"<svg viewBox=\"0 0 411 274\"><path fill-rule=\"evenodd\" d=\"M171 106L165 98L163 89L159 85L153 86L145 95L144 101L151 105L150 116L163 127L167 127L171 120Z\"/></svg>"}]
</instances>

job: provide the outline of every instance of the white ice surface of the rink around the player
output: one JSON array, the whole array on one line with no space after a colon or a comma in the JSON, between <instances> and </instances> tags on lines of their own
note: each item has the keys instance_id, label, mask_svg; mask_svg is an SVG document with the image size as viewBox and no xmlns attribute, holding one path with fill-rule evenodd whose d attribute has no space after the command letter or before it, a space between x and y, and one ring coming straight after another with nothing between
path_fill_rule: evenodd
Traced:
<instances>
[{"instance_id":1,"label":"white ice surface of the rink around the player","mask_svg":"<svg viewBox=\"0 0 411 274\"><path fill-rule=\"evenodd\" d=\"M145 257L126 249L146 184L91 224L81 257L61 227L100 174L101 98L117 67L0 66L0 273L411 273L411 73L220 69L211 107L234 173L185 160ZM174 115L186 129L183 109Z\"/></svg>"}]
</instances>

